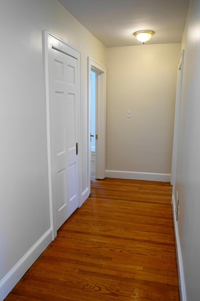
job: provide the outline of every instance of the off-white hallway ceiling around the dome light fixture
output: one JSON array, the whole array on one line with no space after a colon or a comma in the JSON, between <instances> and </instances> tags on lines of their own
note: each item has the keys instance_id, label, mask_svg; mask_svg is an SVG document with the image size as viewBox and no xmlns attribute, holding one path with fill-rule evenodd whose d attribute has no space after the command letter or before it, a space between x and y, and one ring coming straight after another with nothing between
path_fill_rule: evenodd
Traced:
<instances>
[{"instance_id":1,"label":"off-white hallway ceiling around the dome light fixture","mask_svg":"<svg viewBox=\"0 0 200 301\"><path fill-rule=\"evenodd\" d=\"M190 0L57 0L107 47L141 45L133 33L155 32L146 44L181 43Z\"/></svg>"}]
</instances>

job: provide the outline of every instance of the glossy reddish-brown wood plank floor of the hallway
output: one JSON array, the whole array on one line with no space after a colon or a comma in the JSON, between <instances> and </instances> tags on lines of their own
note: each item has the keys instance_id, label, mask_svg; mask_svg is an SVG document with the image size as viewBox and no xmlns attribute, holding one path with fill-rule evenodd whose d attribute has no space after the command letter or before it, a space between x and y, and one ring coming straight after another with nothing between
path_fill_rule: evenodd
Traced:
<instances>
[{"instance_id":1,"label":"glossy reddish-brown wood plank floor of the hallway","mask_svg":"<svg viewBox=\"0 0 200 301\"><path fill-rule=\"evenodd\" d=\"M93 181L5 300L178 301L171 194L169 183Z\"/></svg>"}]
</instances>

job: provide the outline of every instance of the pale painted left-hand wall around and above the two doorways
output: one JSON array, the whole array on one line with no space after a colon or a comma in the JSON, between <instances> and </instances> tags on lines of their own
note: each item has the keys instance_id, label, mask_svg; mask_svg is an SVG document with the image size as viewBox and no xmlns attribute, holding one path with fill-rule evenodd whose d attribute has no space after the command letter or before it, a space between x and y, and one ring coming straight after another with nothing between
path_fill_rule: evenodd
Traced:
<instances>
[{"instance_id":1,"label":"pale painted left-hand wall around and above the two doorways","mask_svg":"<svg viewBox=\"0 0 200 301\"><path fill-rule=\"evenodd\" d=\"M106 48L55 0L1 0L0 280L50 228L42 30L81 52L82 191L87 188L87 56Z\"/></svg>"}]
</instances>

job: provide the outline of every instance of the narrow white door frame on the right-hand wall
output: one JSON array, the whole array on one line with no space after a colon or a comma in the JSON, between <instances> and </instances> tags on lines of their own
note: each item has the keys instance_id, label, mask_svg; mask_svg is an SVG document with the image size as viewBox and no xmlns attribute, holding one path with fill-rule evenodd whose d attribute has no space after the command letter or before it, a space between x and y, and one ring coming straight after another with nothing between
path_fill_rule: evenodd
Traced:
<instances>
[{"instance_id":1,"label":"narrow white door frame on the right-hand wall","mask_svg":"<svg viewBox=\"0 0 200 301\"><path fill-rule=\"evenodd\" d=\"M183 60L184 49L182 50L179 62L178 62L178 74L177 74L177 90L176 90L176 105L174 116L174 135L173 135L173 151L172 151L172 169L171 169L171 185L173 185L173 193L175 194L176 172L177 172L177 160L178 160L178 140L180 129L180 112L181 112L181 95L182 95L182 83L183 83Z\"/></svg>"}]
</instances>

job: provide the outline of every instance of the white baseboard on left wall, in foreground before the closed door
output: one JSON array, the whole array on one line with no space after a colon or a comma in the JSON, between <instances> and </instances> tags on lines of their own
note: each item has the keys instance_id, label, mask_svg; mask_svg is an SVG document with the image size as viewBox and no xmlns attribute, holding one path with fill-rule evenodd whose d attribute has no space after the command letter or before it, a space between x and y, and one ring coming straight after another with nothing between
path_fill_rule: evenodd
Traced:
<instances>
[{"instance_id":1,"label":"white baseboard on left wall, in foreground before the closed door","mask_svg":"<svg viewBox=\"0 0 200 301\"><path fill-rule=\"evenodd\" d=\"M3 301L6 298L29 267L32 266L36 259L51 243L52 233L53 230L50 228L0 281L0 301Z\"/></svg>"}]
</instances>

